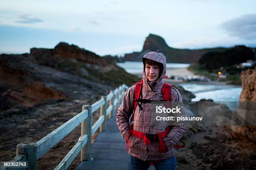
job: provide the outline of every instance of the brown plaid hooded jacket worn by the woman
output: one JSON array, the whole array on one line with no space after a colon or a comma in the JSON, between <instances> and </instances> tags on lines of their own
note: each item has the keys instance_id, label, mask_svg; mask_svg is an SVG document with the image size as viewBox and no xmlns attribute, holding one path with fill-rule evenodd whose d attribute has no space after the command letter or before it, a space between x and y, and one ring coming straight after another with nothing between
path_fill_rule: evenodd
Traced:
<instances>
[{"instance_id":1,"label":"brown plaid hooded jacket worn by the woman","mask_svg":"<svg viewBox=\"0 0 256 170\"><path fill-rule=\"evenodd\" d=\"M163 99L163 95L161 93L161 88L164 85L164 77L166 75L166 58L160 52L149 52L143 56L143 58L147 58L150 60L154 60L156 62L160 62L163 65L163 71L161 76L154 82L149 82L145 71L143 69L143 87L142 87L142 96L143 99L148 100L156 100L160 101ZM118 108L118 113L116 115L117 125L121 132L124 140L127 140L127 136L129 135L129 118L133 113L134 107L134 94L135 94L135 85L131 86L123 96L123 102ZM174 87L171 88L171 100L176 102L182 102L182 97L177 89ZM163 132L166 129L166 126L154 125L151 120L151 105L150 103L141 103L143 110L140 110L139 107L136 107L134 111L134 125L133 129L148 133L148 134L156 134ZM181 109L182 115L185 116L185 111ZM166 153L159 152L159 142L151 142L148 146L143 143L143 140L140 138L136 138L134 136L129 137L129 154L133 157L136 157L141 160L162 160L167 158L174 157L174 145L177 141L182 137L183 133L186 130L186 123L179 123L172 127L169 131L167 138L164 138L164 143L167 148ZM126 141L127 142L127 141Z\"/></svg>"}]
</instances>

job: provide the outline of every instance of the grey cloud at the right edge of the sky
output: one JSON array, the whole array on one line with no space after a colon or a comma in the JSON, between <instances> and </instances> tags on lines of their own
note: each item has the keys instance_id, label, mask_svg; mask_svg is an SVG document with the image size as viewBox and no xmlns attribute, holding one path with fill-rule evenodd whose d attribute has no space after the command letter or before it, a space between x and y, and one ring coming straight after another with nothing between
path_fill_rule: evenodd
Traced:
<instances>
[{"instance_id":1,"label":"grey cloud at the right edge of the sky","mask_svg":"<svg viewBox=\"0 0 256 170\"><path fill-rule=\"evenodd\" d=\"M220 25L229 35L235 35L246 40L256 39L256 14L243 15L226 21Z\"/></svg>"}]
</instances>

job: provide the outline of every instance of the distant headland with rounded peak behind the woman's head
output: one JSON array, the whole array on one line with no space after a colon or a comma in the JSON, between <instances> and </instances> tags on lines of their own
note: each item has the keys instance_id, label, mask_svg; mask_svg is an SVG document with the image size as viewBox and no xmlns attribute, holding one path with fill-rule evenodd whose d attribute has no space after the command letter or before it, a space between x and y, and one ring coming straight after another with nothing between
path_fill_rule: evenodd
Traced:
<instances>
[{"instance_id":1,"label":"distant headland with rounded peak behind the woman's head","mask_svg":"<svg viewBox=\"0 0 256 170\"><path fill-rule=\"evenodd\" d=\"M162 37L154 34L149 34L148 37L146 37L141 52L125 54L125 60L141 61L141 57L143 57L143 55L145 55L147 52L156 50L160 50L160 52L164 53L167 62L197 63L200 57L202 57L202 55L206 54L207 52L221 52L225 51L226 48L204 48L199 50L177 49L169 47Z\"/></svg>"}]
</instances>

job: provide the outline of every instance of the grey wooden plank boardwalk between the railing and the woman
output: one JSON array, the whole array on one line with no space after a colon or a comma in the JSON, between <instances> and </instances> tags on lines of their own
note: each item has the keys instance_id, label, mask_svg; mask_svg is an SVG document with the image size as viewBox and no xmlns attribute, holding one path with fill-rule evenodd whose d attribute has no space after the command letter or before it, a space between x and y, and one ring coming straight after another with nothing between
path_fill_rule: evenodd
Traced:
<instances>
[{"instance_id":1,"label":"grey wooden plank boardwalk between the railing and the woman","mask_svg":"<svg viewBox=\"0 0 256 170\"><path fill-rule=\"evenodd\" d=\"M126 170L128 151L116 125L116 117L107 121L107 131L100 132L92 145L90 162L81 162L76 170Z\"/></svg>"}]
</instances>

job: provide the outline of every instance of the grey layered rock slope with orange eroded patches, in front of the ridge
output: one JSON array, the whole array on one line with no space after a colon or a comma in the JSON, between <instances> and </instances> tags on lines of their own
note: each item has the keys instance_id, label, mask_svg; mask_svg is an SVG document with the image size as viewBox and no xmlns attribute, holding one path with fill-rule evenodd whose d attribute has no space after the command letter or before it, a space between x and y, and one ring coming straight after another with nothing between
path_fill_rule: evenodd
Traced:
<instances>
[{"instance_id":1,"label":"grey layered rock slope with orange eroded patches, in front of the ridge","mask_svg":"<svg viewBox=\"0 0 256 170\"><path fill-rule=\"evenodd\" d=\"M107 85L46 65L39 64L30 54L0 55L0 112L17 105L31 107L49 99L99 97L110 90Z\"/></svg>"}]
</instances>

